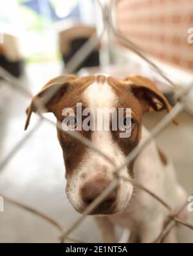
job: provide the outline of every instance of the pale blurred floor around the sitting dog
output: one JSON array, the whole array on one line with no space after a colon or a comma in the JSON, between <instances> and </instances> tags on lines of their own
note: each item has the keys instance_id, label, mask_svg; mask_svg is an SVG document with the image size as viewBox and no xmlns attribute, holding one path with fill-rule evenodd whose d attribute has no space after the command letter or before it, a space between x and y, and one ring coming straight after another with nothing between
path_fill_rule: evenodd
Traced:
<instances>
[{"instance_id":1,"label":"pale blurred floor around the sitting dog","mask_svg":"<svg viewBox=\"0 0 193 256\"><path fill-rule=\"evenodd\" d=\"M28 69L31 86L23 86L37 92L44 82L59 74L60 65L32 66ZM8 94L9 95L9 94ZM6 156L13 145L24 136L24 110L28 105L17 92L7 96L1 107L1 156ZM51 114L47 114L51 117ZM151 128L163 114L148 114L144 123ZM54 120L54 119L53 119ZM37 121L35 114L29 129ZM183 113L179 116L178 127L169 125L157 141L169 155L181 184L188 193L193 192L193 119ZM0 191L24 202L58 220L67 229L78 217L69 204L65 193L64 165L62 151L57 142L55 127L43 123L32 138L6 165L0 173ZM190 213L193 223L193 212ZM57 242L58 231L45 220L5 202L5 211L0 213L0 242ZM72 235L77 239L98 242L98 231L91 217L88 217ZM180 241L193 242L193 231L181 228Z\"/></svg>"}]
</instances>

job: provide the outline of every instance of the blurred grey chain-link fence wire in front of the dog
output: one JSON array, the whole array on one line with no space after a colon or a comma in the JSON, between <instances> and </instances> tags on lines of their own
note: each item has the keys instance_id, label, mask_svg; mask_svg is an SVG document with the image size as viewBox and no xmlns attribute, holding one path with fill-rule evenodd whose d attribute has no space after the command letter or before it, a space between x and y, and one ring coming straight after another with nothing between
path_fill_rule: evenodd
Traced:
<instances>
[{"instance_id":1,"label":"blurred grey chain-link fence wire in front of the dog","mask_svg":"<svg viewBox=\"0 0 193 256\"><path fill-rule=\"evenodd\" d=\"M108 32L111 32L118 40L124 42L124 46L128 50L130 50L131 52L134 52L134 54L137 54L138 56L140 56L140 58L142 58L143 61L145 61L151 68L153 68L154 71L158 75L161 76L161 78L163 78L165 81L167 81L167 83L169 83L172 87L174 87L174 90L176 90L177 85L164 74L163 70L161 70L160 67L158 67L158 65L153 63L152 60L149 59L138 46L136 46L131 40L127 39L122 34L122 32L120 32L120 30L118 30L118 28L116 28L116 24L113 19L113 12L115 11L116 5L120 1L124 1L124 0L112 0L108 4L102 5L100 0L96 0L96 2L98 3L98 6L100 7L100 9L102 11L102 19L103 19L104 28L99 36L96 36L96 34L91 36L86 41L86 43L84 43L84 45L80 48L80 50L78 50L74 54L74 56L67 63L65 72L67 74L73 73L73 71L75 69L77 69L78 65L80 65L80 63L82 63L82 61L84 61L84 59L87 58L89 53L92 52L92 50L96 47L96 45L98 45L98 43L100 43L105 32L108 31ZM29 91L27 91L26 89L24 89L24 87L21 86L20 80L18 80L17 78L14 78L11 74L9 74L5 69L3 69L1 67L0 67L0 76L2 78L4 78L6 81L8 81L8 85L10 85L10 87L12 89L16 90L20 94L23 94L24 97L27 97L29 99L33 98L32 94ZM124 179L124 180L127 180L127 182L130 182L131 184L133 184L133 186L137 187L138 189L141 189L141 190L145 191L145 193L151 195L151 197L153 197L154 200L157 200L158 202L160 202L160 204L163 205L163 207L165 207L168 211L167 218L165 219L165 226L163 227L160 235L158 235L158 237L155 237L154 241L152 241L152 242L161 242L167 236L167 234L170 232L170 230L176 225L176 223L186 226L187 228L190 228L193 230L192 224L189 224L188 222L185 222L178 218L179 213L187 207L187 202L185 202L185 204L178 209L172 209L172 207L170 207L169 204L167 204L167 202L165 202L165 200L158 197L158 195L156 195L154 192L150 191L147 187L144 187L143 184L140 184L140 182L137 182L136 180L134 180L132 178L125 178L125 176L120 175L120 170L123 167L127 166L152 141L153 138L156 138L156 136L158 136L158 134L160 134L165 129L165 127L167 127L167 125L169 125L172 118L174 118L176 115L179 114L179 112L181 112L183 110L187 111L186 98L187 98L187 95L190 92L190 90L193 89L193 81L192 81L192 84L190 84L187 87L187 89L184 89L181 92L181 94L178 95L176 105L174 105L172 111L170 111L168 114L166 114L165 117L161 120L161 122L159 122L154 127L154 129L152 129L151 136L149 136L149 138L147 138L147 140L145 140L142 145L137 145L133 149L133 151L131 151L131 153L126 157L124 164L122 164L120 166L116 166L115 163L113 162L113 160L111 158L109 158L109 156L107 156L100 149L98 149L93 144L91 144L91 142L86 137L84 137L82 134L73 133L73 131L64 131L62 129L61 122L55 123L42 115L42 112L44 112L44 110L46 109L46 103L51 99L51 97L55 94L55 92L57 92L60 89L60 87L62 85L63 85L63 83L60 84L59 86L57 86L57 89L46 93L44 101L42 101L42 100L35 101L35 108L37 109L37 114L39 115L39 120L34 125L33 129L30 132L28 132L27 134L25 134L25 136L19 142L17 142L16 145L14 145L14 147L12 148L10 153L8 153L8 155L0 162L0 172L3 171L3 168L5 167L6 164L8 164L8 162L12 159L12 157L16 153L19 153L19 149L21 149L21 147L24 145L24 143L29 138L31 138L32 134L35 133L35 131L37 131L37 129L40 127L41 123L48 122L48 123L50 123L50 125L57 126L64 133L67 133L69 136L75 138L80 143L86 145L86 147L89 147L91 150L95 151L99 156L104 158L104 160L106 160L111 165L113 165L113 168L114 168L113 174L115 176L113 182L111 182L111 184L109 186L107 186L106 189L104 189L104 191L93 202L91 202L91 204L89 204L89 206L84 210L82 215L77 220L75 220L75 222L67 230L64 230L62 228L62 226L57 221L53 220L51 217L48 217L44 213L41 213L40 211L37 211L36 209L33 209L29 206L21 204L17 200L8 198L8 197L6 197L6 195L3 195L3 193L0 193L0 196L5 198L5 200L8 200L8 202L15 204L15 206L18 206L20 208L28 210L28 211L38 215L39 217L44 218L48 222L50 222L50 224L55 226L55 228L59 229L59 231L60 231L59 241L60 242L64 242L66 240L69 240L72 242L87 242L85 240L82 241L82 240L78 240L78 239L73 239L72 237L69 237L69 236L82 223L82 221L84 219L86 219L87 215L89 213L91 213L93 211L93 209L95 209L98 205L100 205L101 202L103 202L103 200L110 193L112 193L112 191L115 190L115 188L118 184L118 181L120 179Z\"/></svg>"}]
</instances>

